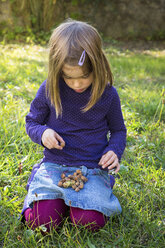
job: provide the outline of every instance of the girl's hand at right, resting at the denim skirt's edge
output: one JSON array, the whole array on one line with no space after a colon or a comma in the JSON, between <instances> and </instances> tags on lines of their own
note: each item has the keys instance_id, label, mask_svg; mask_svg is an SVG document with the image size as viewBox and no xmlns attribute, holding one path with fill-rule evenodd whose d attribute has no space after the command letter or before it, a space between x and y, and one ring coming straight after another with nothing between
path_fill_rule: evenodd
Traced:
<instances>
[{"instance_id":1,"label":"girl's hand at right, resting at the denim skirt's edge","mask_svg":"<svg viewBox=\"0 0 165 248\"><path fill-rule=\"evenodd\" d=\"M106 167L108 167L109 170L116 168L115 173L119 172L120 170L118 157L113 151L108 151L107 153L105 153L101 157L99 165L101 165L103 169L105 169Z\"/></svg>"}]
</instances>

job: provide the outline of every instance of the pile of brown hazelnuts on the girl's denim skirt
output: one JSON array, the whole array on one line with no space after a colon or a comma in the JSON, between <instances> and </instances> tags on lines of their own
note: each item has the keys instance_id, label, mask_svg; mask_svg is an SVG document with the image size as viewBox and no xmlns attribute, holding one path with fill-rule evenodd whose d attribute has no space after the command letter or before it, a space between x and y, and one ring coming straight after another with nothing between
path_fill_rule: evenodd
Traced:
<instances>
[{"instance_id":1,"label":"pile of brown hazelnuts on the girl's denim skirt","mask_svg":"<svg viewBox=\"0 0 165 248\"><path fill-rule=\"evenodd\" d=\"M72 175L66 176L65 173L61 174L61 180L58 182L59 187L69 188L72 187L76 192L84 188L84 183L88 178L83 176L81 170L76 170Z\"/></svg>"}]
</instances>

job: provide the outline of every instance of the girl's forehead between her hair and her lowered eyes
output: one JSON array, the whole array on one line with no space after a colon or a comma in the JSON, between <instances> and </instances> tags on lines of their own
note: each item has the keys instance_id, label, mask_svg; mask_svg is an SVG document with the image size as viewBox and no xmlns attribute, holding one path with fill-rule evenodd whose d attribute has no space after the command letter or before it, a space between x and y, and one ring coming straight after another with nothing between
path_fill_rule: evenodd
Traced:
<instances>
[{"instance_id":1,"label":"girl's forehead between her hair and her lowered eyes","mask_svg":"<svg viewBox=\"0 0 165 248\"><path fill-rule=\"evenodd\" d=\"M81 77L85 74L82 67L71 66L68 64L64 64L64 66L62 67L62 72L69 77Z\"/></svg>"}]
</instances>

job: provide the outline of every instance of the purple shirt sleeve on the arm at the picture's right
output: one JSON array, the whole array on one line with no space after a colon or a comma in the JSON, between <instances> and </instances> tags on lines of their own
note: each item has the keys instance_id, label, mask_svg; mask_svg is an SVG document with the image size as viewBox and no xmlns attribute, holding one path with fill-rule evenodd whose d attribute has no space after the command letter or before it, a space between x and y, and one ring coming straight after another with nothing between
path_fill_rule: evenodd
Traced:
<instances>
[{"instance_id":1,"label":"purple shirt sleeve on the arm at the picture's right","mask_svg":"<svg viewBox=\"0 0 165 248\"><path fill-rule=\"evenodd\" d=\"M111 150L120 160L126 146L127 130L124 124L119 95L114 87L113 91L113 99L107 113L110 131L109 144L105 148L103 154Z\"/></svg>"}]
</instances>

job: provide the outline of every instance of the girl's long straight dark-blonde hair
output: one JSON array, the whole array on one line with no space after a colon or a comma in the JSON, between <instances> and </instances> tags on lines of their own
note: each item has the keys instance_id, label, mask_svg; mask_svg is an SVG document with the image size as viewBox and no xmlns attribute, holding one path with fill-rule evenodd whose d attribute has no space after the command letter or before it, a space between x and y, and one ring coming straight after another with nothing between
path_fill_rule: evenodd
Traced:
<instances>
[{"instance_id":1,"label":"girl's long straight dark-blonde hair","mask_svg":"<svg viewBox=\"0 0 165 248\"><path fill-rule=\"evenodd\" d=\"M78 66L85 50L86 57L82 68L93 72L91 97L83 111L86 112L99 100L106 85L112 85L112 72L102 49L102 40L91 25L70 20L54 29L49 41L49 67L47 78L47 96L56 110L56 117L62 114L59 92L59 79L63 65Z\"/></svg>"}]
</instances>

